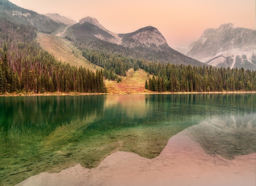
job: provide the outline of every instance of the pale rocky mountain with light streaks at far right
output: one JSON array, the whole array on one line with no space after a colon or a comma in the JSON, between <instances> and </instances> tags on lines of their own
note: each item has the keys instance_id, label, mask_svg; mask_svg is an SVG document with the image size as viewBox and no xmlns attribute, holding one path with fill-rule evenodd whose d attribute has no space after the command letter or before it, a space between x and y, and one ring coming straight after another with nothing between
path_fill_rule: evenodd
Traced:
<instances>
[{"instance_id":1,"label":"pale rocky mountain with light streaks at far right","mask_svg":"<svg viewBox=\"0 0 256 186\"><path fill-rule=\"evenodd\" d=\"M178 50L213 66L256 69L256 30L224 24L205 30L197 42Z\"/></svg>"}]
</instances>

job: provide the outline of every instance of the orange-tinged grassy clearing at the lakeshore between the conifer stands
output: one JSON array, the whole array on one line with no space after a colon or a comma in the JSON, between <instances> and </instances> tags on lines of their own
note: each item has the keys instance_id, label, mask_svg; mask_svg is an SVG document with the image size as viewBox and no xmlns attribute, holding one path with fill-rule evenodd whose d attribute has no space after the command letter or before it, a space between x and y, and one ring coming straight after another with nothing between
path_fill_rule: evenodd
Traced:
<instances>
[{"instance_id":1,"label":"orange-tinged grassy clearing at the lakeshore between the conifer stands","mask_svg":"<svg viewBox=\"0 0 256 186\"><path fill-rule=\"evenodd\" d=\"M123 77L122 79L123 81L120 83L117 83L116 81L106 81L108 93L120 94L151 92L145 90L147 73L143 69L139 69L134 72L133 77Z\"/></svg>"}]
</instances>

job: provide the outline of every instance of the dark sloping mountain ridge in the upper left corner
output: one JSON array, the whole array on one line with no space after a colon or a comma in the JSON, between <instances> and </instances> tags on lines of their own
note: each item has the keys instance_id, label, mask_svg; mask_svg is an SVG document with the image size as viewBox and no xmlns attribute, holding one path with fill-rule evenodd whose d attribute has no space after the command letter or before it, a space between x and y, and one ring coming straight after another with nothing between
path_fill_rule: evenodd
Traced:
<instances>
[{"instance_id":1,"label":"dark sloping mountain ridge in the upper left corner","mask_svg":"<svg viewBox=\"0 0 256 186\"><path fill-rule=\"evenodd\" d=\"M0 0L0 17L16 23L32 25L43 33L52 33L63 25L44 15L19 7L8 0Z\"/></svg>"}]
</instances>

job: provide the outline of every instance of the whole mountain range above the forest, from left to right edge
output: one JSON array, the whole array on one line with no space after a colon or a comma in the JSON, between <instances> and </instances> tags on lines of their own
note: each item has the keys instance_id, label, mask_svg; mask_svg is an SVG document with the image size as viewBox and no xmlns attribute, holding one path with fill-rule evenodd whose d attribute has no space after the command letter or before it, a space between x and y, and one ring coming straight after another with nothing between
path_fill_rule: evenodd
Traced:
<instances>
[{"instance_id":1,"label":"whole mountain range above the forest, from left to right edge","mask_svg":"<svg viewBox=\"0 0 256 186\"><path fill-rule=\"evenodd\" d=\"M152 26L116 34L96 18L85 17L76 23L59 14L41 15L23 9L8 0L0 0L0 17L32 25L39 32L65 37L81 50L93 48L163 63L256 69L256 31L232 24L205 30L197 42L179 48L183 55L169 47L165 37Z\"/></svg>"}]
</instances>

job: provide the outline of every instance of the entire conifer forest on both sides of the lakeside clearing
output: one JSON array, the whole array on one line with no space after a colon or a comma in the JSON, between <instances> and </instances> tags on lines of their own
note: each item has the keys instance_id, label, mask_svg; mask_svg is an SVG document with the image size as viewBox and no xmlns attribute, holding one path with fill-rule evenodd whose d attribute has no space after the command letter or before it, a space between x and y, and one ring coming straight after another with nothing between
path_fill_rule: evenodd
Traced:
<instances>
[{"instance_id":1,"label":"entire conifer forest on both sides of the lakeside clearing","mask_svg":"<svg viewBox=\"0 0 256 186\"><path fill-rule=\"evenodd\" d=\"M104 78L122 81L129 68L154 74L145 88L164 92L256 91L251 70L161 64L120 53L84 49L83 56L104 67L90 71L57 61L35 41L36 29L0 18L0 93L106 92Z\"/></svg>"}]
</instances>

